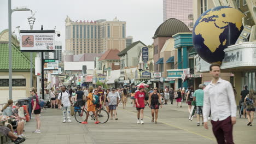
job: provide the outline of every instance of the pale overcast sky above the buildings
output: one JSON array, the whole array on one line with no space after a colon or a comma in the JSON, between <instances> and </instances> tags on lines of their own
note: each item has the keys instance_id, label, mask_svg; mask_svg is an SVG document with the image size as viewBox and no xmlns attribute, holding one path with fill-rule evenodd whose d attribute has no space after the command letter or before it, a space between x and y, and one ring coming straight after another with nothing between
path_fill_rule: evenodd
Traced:
<instances>
[{"instance_id":1,"label":"pale overcast sky above the buildings","mask_svg":"<svg viewBox=\"0 0 256 144\"><path fill-rule=\"evenodd\" d=\"M144 44L153 43L156 28L162 23L162 0L12 0L11 8L26 6L37 11L33 29L53 29L61 32L65 47L65 19L71 20L98 19L126 21L126 36L131 35L133 41L141 40ZM8 0L0 0L0 31L8 28ZM12 14L12 29L30 29L27 17L30 11L15 11Z\"/></svg>"}]
</instances>

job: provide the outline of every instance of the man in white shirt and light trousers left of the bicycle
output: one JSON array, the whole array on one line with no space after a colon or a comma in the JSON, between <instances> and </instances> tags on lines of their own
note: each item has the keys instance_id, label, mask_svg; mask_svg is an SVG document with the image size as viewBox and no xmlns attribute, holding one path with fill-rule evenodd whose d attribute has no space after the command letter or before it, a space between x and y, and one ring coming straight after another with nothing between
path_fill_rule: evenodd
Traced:
<instances>
[{"instance_id":1,"label":"man in white shirt and light trousers left of the bicycle","mask_svg":"<svg viewBox=\"0 0 256 144\"><path fill-rule=\"evenodd\" d=\"M66 91L65 86L61 86L58 103L62 106L63 123L72 122L70 119L70 106L72 104L70 94Z\"/></svg>"}]
</instances>

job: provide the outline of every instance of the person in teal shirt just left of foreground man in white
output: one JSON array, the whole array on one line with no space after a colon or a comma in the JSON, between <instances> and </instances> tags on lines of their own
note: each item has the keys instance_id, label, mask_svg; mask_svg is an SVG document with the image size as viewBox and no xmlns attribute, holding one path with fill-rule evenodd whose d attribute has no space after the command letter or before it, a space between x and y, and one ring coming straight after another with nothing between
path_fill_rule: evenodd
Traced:
<instances>
[{"instance_id":1,"label":"person in teal shirt just left of foreground man in white","mask_svg":"<svg viewBox=\"0 0 256 144\"><path fill-rule=\"evenodd\" d=\"M193 101L195 101L196 103L197 126L200 126L200 115L202 115L202 109L203 109L203 84L200 84L199 89L195 91ZM203 125L203 116L202 116L202 125Z\"/></svg>"}]
</instances>

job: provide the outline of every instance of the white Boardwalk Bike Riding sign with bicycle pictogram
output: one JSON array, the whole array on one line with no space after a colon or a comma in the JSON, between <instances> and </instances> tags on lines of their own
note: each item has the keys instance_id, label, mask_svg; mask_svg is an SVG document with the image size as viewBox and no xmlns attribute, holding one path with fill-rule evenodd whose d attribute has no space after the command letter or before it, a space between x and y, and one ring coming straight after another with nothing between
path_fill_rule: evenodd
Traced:
<instances>
[{"instance_id":1,"label":"white Boardwalk Bike Riding sign with bicycle pictogram","mask_svg":"<svg viewBox=\"0 0 256 144\"><path fill-rule=\"evenodd\" d=\"M55 50L55 33L22 33L20 32L21 51Z\"/></svg>"}]
</instances>

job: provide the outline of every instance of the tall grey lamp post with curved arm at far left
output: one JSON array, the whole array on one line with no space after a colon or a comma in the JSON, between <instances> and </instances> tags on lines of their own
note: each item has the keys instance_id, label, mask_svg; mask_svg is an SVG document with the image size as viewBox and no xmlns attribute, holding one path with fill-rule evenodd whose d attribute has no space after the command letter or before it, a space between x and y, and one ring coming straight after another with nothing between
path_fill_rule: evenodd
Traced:
<instances>
[{"instance_id":1,"label":"tall grey lamp post with curved arm at far left","mask_svg":"<svg viewBox=\"0 0 256 144\"><path fill-rule=\"evenodd\" d=\"M11 13L14 11L28 11L30 9L27 8L16 8L16 9L11 9L11 0L8 0L8 23L9 23L9 41L8 41L8 46L9 46L9 99L13 98L13 81L12 81L12 73L13 73L13 67L12 67L12 56L11 56Z\"/></svg>"}]
</instances>

